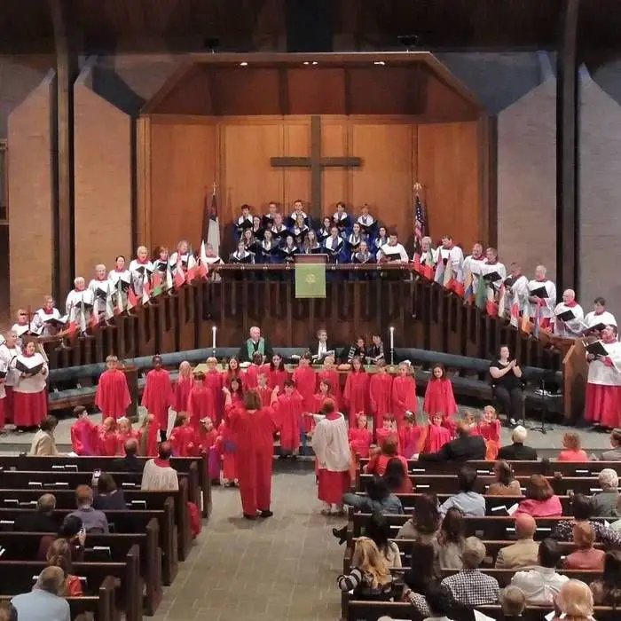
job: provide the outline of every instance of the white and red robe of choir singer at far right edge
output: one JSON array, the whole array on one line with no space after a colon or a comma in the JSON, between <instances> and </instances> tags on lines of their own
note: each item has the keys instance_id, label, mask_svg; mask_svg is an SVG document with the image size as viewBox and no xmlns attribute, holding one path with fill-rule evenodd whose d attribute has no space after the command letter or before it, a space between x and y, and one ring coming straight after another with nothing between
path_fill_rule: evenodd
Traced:
<instances>
[{"instance_id":1,"label":"white and red robe of choir singer at far right edge","mask_svg":"<svg viewBox=\"0 0 621 621\"><path fill-rule=\"evenodd\" d=\"M602 343L605 360L592 360L586 380L587 421L602 427L621 425L621 342Z\"/></svg>"}]
</instances>

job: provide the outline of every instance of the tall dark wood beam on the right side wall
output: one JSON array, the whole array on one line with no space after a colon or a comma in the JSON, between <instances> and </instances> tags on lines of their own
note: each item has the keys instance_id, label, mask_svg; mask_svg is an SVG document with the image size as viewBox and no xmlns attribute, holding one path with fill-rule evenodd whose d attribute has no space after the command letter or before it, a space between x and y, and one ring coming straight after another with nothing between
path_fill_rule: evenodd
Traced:
<instances>
[{"instance_id":1,"label":"tall dark wood beam on the right side wall","mask_svg":"<svg viewBox=\"0 0 621 621\"><path fill-rule=\"evenodd\" d=\"M564 0L556 96L556 281L578 291L578 12Z\"/></svg>"}]
</instances>

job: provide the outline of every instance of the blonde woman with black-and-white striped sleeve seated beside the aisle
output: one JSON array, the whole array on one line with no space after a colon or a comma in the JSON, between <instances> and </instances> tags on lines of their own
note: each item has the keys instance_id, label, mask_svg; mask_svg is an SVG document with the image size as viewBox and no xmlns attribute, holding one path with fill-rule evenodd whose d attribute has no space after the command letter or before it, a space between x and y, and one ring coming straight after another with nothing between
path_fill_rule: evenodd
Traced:
<instances>
[{"instance_id":1,"label":"blonde woman with black-and-white striped sleeve seated beside the aisle","mask_svg":"<svg viewBox=\"0 0 621 621\"><path fill-rule=\"evenodd\" d=\"M370 538L361 537L356 541L351 568L349 574L336 578L341 591L353 591L357 600L389 601L393 587L390 568Z\"/></svg>"}]
</instances>

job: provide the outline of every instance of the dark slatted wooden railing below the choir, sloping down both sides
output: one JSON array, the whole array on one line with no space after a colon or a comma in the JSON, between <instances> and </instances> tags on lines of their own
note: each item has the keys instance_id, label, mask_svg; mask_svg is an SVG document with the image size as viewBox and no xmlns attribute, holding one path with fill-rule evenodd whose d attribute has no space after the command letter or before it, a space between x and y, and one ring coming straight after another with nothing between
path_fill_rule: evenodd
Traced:
<instances>
[{"instance_id":1,"label":"dark slatted wooden railing below the choir, sloping down both sides","mask_svg":"<svg viewBox=\"0 0 621 621\"><path fill-rule=\"evenodd\" d=\"M387 341L393 326L397 348L491 358L507 344L523 366L562 368L554 343L491 318L408 265L328 265L325 299L295 299L292 266L222 265L207 281L161 295L111 324L73 340L45 339L51 367L102 362L110 353L135 358L210 347L212 326L221 347L240 345L250 326L260 326L275 347L310 344L319 327L336 344L376 330Z\"/></svg>"}]
</instances>

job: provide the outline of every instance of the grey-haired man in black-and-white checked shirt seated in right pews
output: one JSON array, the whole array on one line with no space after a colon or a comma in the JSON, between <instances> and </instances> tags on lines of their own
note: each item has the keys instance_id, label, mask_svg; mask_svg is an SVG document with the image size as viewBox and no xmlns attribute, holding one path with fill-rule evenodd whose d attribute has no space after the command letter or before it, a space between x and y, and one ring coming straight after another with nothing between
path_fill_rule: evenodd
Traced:
<instances>
[{"instance_id":1,"label":"grey-haired man in black-and-white checked shirt seated in right pews","mask_svg":"<svg viewBox=\"0 0 621 621\"><path fill-rule=\"evenodd\" d=\"M440 583L448 587L455 600L467 606L495 604L498 601L500 587L498 580L487 576L479 567L487 551L481 539L468 537L464 542L464 569L444 578Z\"/></svg>"}]
</instances>

